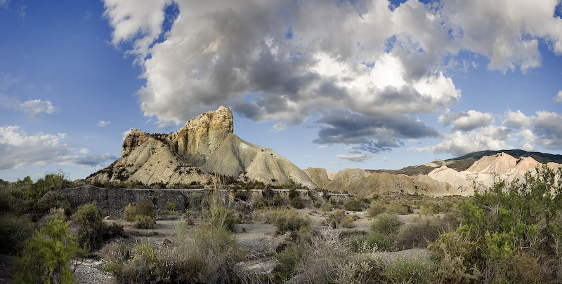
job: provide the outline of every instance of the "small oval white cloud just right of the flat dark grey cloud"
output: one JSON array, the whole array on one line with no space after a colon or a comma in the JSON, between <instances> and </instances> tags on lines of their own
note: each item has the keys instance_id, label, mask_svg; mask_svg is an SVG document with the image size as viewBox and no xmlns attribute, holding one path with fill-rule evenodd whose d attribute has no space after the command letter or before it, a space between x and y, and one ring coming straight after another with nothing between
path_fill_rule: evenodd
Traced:
<instances>
[{"instance_id":1,"label":"small oval white cloud just right of the flat dark grey cloud","mask_svg":"<svg viewBox=\"0 0 562 284\"><path fill-rule=\"evenodd\" d=\"M452 122L452 130L471 131L476 128L490 126L494 123L494 117L489 113L480 111L459 111L455 114L443 114L439 116L438 121L443 125L449 125Z\"/></svg>"}]
</instances>

